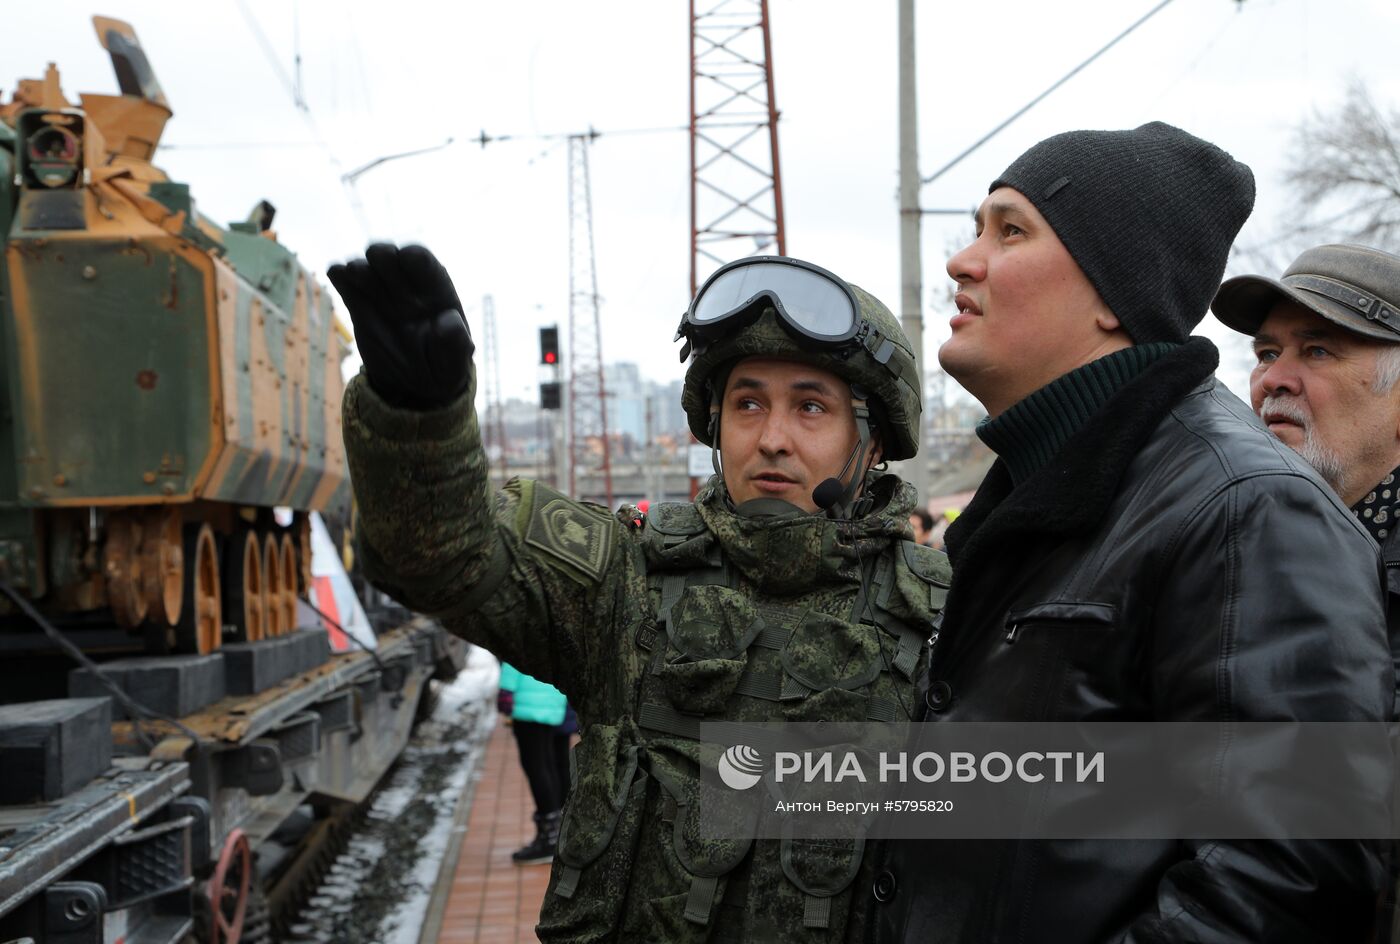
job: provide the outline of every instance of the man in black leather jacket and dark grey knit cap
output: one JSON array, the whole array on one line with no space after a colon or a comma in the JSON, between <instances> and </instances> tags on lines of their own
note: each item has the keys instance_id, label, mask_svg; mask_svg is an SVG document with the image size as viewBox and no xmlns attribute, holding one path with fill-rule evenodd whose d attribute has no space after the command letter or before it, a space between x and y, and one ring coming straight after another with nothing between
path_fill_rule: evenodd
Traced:
<instances>
[{"instance_id":1,"label":"man in black leather jacket and dark grey knit cap","mask_svg":"<svg viewBox=\"0 0 1400 944\"><path fill-rule=\"evenodd\" d=\"M948 529L925 723L1390 717L1375 545L1189 336L1253 195L1162 123L1051 137L988 189L939 361L998 461ZM1361 941L1385 881L1362 842L876 854L876 941Z\"/></svg>"}]
</instances>

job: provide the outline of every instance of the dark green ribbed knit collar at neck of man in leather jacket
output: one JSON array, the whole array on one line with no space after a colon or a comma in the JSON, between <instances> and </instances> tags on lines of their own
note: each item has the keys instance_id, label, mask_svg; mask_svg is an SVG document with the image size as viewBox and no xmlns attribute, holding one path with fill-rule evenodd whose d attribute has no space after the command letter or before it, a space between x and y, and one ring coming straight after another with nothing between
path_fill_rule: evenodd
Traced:
<instances>
[{"instance_id":1,"label":"dark green ribbed knit collar at neck of man in leather jacket","mask_svg":"<svg viewBox=\"0 0 1400 944\"><path fill-rule=\"evenodd\" d=\"M1015 403L997 419L983 420L977 436L1007 464L1021 485L1044 468L1060 447L1128 381L1162 354L1170 342L1134 345L1089 361Z\"/></svg>"}]
</instances>

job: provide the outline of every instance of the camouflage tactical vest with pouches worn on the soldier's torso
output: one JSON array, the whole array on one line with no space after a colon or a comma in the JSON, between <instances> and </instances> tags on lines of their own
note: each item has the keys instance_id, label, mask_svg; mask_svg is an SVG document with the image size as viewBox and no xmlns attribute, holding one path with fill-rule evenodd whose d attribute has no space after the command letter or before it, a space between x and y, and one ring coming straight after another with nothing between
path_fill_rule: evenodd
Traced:
<instances>
[{"instance_id":1,"label":"camouflage tactical vest with pouches worn on the soldier's torso","mask_svg":"<svg viewBox=\"0 0 1400 944\"><path fill-rule=\"evenodd\" d=\"M801 916L791 922L798 927L750 940L839 938L864 832L837 843L701 839L697 772L713 769L718 754L699 740L700 724L913 714L932 620L948 594L946 557L895 542L867 562L869 577L854 598L818 590L780 601L745 585L693 504L655 506L641 542L655 620L630 633L634 712L620 726L591 730L592 744L585 738L575 752L552 894L575 899L581 881L589 896L610 887L633 902L629 910L650 910L648 940L668 941L738 940L728 937L736 923L752 929L762 920L755 919L760 899L799 898L792 910ZM620 877L588 881L589 870L622 863L626 887ZM648 891L659 895L648 901ZM546 917L568 913L567 924L580 929L606 920L599 902L570 905L546 903ZM721 920L721 912L739 920Z\"/></svg>"}]
</instances>

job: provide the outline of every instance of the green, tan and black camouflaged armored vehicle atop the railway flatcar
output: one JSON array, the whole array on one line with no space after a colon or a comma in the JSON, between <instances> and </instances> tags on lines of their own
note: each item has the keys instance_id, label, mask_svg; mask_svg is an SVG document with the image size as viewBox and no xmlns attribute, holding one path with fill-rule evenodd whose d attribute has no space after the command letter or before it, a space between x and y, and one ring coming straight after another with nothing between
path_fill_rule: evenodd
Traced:
<instances>
[{"instance_id":1,"label":"green, tan and black camouflaged armored vehicle atop the railway flatcar","mask_svg":"<svg viewBox=\"0 0 1400 944\"><path fill-rule=\"evenodd\" d=\"M153 162L171 108L94 22L122 94L74 104L50 64L0 106L0 580L209 653L291 629L307 513L347 501L347 335L272 204L217 225Z\"/></svg>"}]
</instances>

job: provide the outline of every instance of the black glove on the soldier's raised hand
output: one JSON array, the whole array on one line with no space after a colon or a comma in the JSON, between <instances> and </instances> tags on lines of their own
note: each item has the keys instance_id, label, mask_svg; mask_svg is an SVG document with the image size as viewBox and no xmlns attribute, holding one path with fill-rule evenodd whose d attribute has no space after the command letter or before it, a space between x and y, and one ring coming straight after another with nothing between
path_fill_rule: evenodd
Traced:
<instances>
[{"instance_id":1,"label":"black glove on the soldier's raised hand","mask_svg":"<svg viewBox=\"0 0 1400 944\"><path fill-rule=\"evenodd\" d=\"M350 310L370 387L391 406L433 410L472 384L472 331L447 269L423 247L377 242L326 270Z\"/></svg>"}]
</instances>

